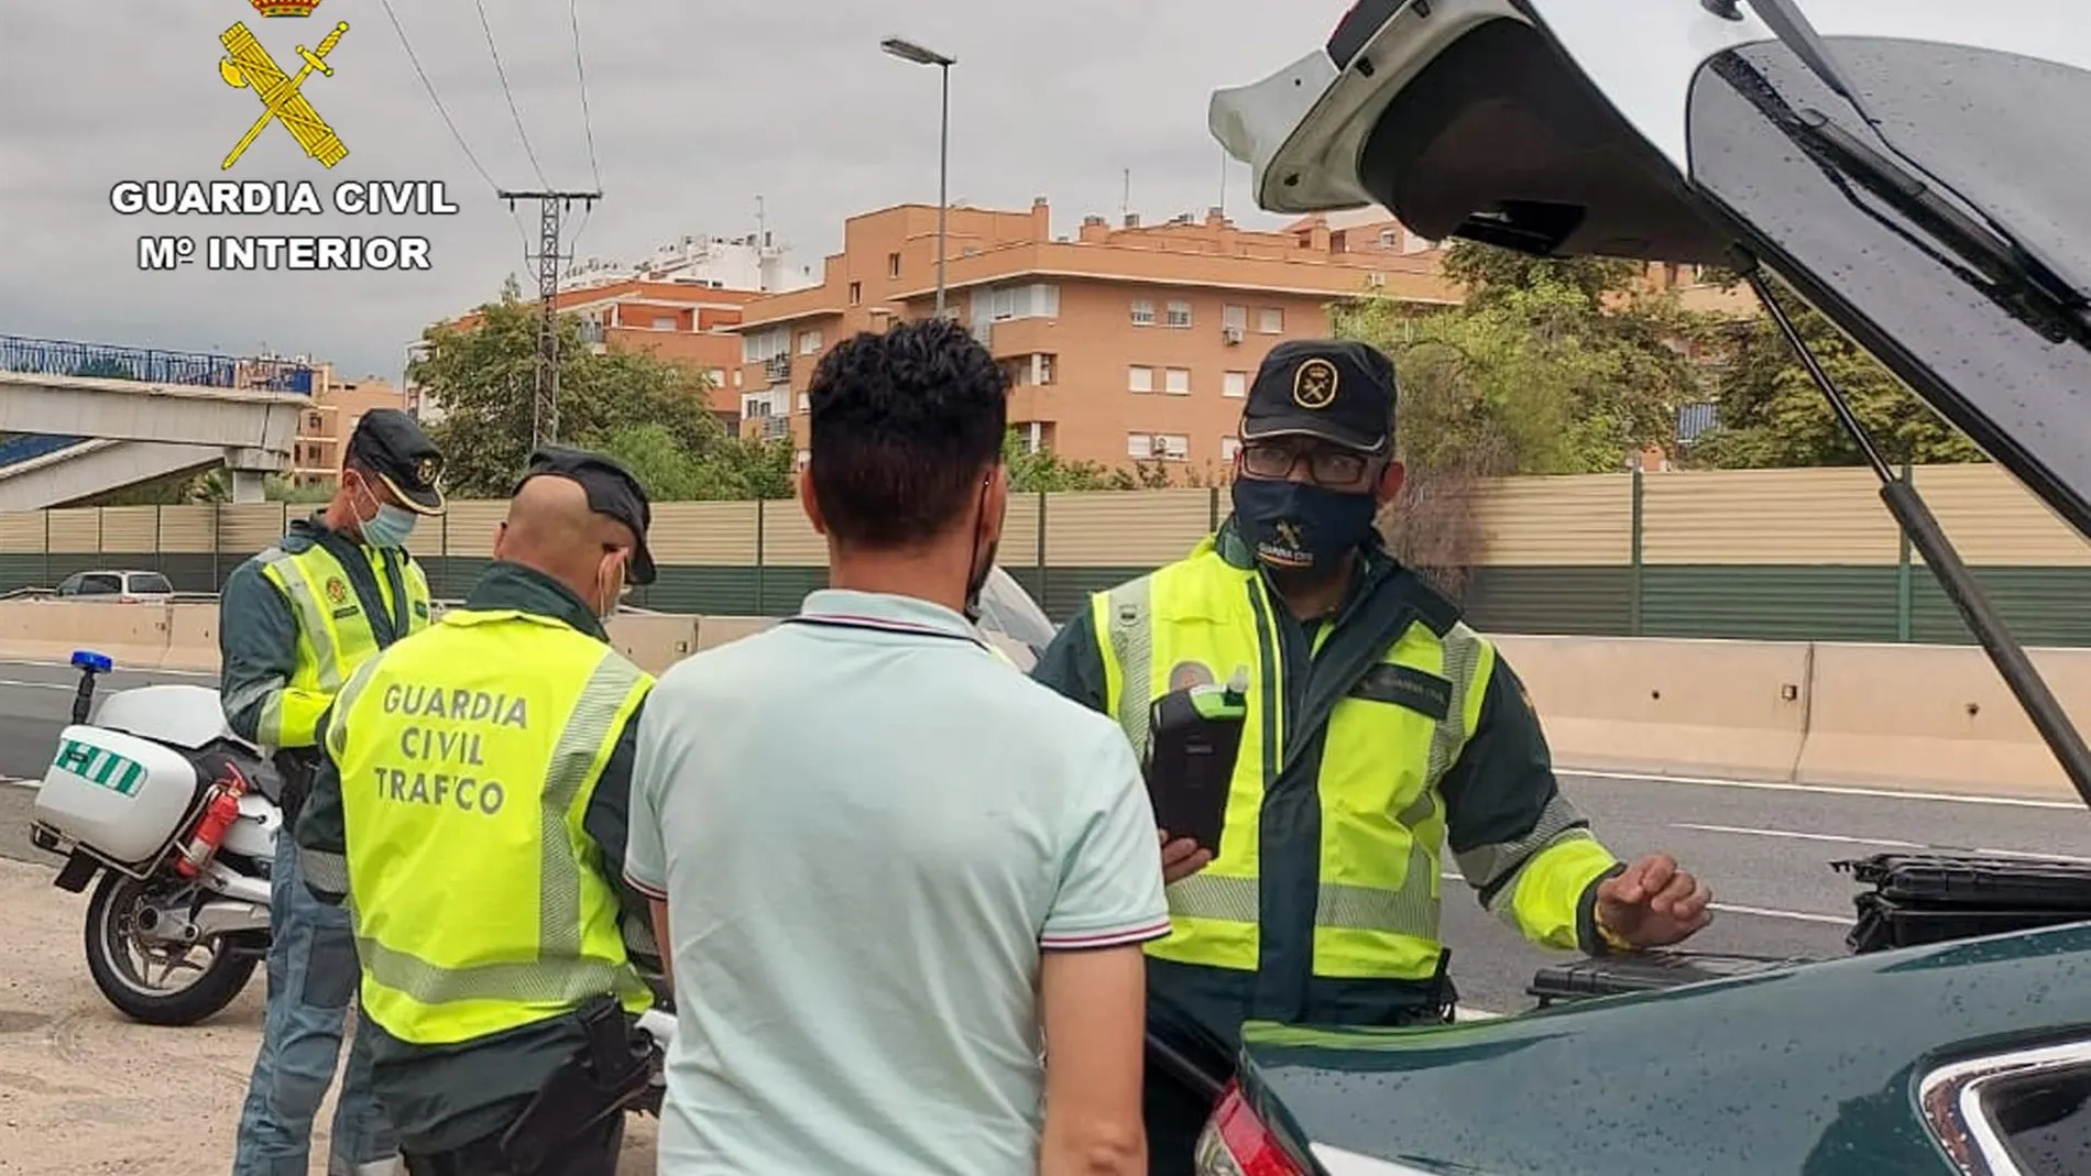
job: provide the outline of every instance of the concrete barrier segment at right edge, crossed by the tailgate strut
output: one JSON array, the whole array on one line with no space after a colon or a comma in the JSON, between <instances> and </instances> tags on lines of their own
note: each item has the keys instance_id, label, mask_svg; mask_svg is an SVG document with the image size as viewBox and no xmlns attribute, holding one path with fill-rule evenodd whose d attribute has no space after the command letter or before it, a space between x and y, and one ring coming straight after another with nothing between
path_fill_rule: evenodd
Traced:
<instances>
[{"instance_id":1,"label":"concrete barrier segment at right edge, crossed by the tailgate strut","mask_svg":"<svg viewBox=\"0 0 2091 1176\"><path fill-rule=\"evenodd\" d=\"M2032 650L2062 708L2091 729L2091 650ZM2076 798L1978 648L1817 645L1815 714L1796 777Z\"/></svg>"}]
</instances>

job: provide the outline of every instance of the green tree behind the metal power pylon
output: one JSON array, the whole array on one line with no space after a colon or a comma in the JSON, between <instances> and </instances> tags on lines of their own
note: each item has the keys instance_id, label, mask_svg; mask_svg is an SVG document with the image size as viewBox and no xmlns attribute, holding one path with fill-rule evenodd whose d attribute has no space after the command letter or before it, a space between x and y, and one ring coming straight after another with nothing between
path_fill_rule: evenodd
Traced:
<instances>
[{"instance_id":1,"label":"green tree behind the metal power pylon","mask_svg":"<svg viewBox=\"0 0 2091 1176\"><path fill-rule=\"evenodd\" d=\"M707 403L703 372L648 353L596 355L573 320L558 322L558 437L562 443L608 449L661 430L690 462L732 453L719 418ZM470 328L424 332L427 351L408 368L443 405L431 430L443 447L450 487L460 497L502 497L529 457L531 405L537 382L537 311L514 297L481 307ZM650 451L648 451L650 453ZM648 457L652 460L652 457ZM730 462L732 457L728 457ZM719 476L713 485L732 483Z\"/></svg>"}]
</instances>

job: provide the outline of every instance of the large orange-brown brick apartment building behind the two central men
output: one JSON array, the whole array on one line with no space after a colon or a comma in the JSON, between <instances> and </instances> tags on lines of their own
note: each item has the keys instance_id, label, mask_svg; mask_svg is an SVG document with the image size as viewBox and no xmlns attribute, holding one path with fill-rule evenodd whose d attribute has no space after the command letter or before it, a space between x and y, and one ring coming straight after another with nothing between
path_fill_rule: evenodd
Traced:
<instances>
[{"instance_id":1,"label":"large orange-brown brick apartment building behind the two central men","mask_svg":"<svg viewBox=\"0 0 2091 1176\"><path fill-rule=\"evenodd\" d=\"M1238 228L1219 209L1154 226L1087 217L1054 236L1039 198L1029 211L953 207L947 236L947 313L1010 374L1010 422L1033 449L1104 466L1219 476L1257 366L1284 338L1328 334L1332 301L1460 299L1437 246L1386 213L1278 232ZM928 317L935 301L937 207L851 217L818 286L746 307L736 328L742 432L792 437L805 453L820 355L853 332Z\"/></svg>"}]
</instances>

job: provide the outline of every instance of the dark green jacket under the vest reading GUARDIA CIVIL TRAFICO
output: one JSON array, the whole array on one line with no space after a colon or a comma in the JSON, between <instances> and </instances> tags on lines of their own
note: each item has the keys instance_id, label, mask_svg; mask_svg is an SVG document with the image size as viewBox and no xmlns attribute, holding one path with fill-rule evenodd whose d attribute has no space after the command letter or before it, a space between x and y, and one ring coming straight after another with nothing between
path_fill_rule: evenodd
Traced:
<instances>
[{"instance_id":1,"label":"dark green jacket under the vest reading GUARDIA CIVIL TRAFICO","mask_svg":"<svg viewBox=\"0 0 2091 1176\"><path fill-rule=\"evenodd\" d=\"M516 564L487 568L473 585L466 608L514 608L552 616L598 641L608 641L602 622L577 595L550 577ZM646 959L654 955L652 938L644 932L650 915L644 898L625 890L623 863L631 813L631 756L644 708L642 702L619 733L617 748L611 752L581 819L581 827L602 848L602 861L608 863L619 894L625 898L625 938L638 957L634 963L642 971L657 969L659 961ZM320 725L324 731L326 719ZM341 773L330 756L322 756L312 798L297 819L297 844L305 852L330 854L335 861L347 854ZM305 888L322 902L343 902L345 894L314 886L312 871L305 873ZM429 900L439 902L441 896L431 894ZM414 1145L416 1151L450 1151L506 1130L523 1103L588 1040L579 1017L573 1015L521 1026L460 1046L416 1046L387 1034L368 1017L358 1019L355 1032L370 1034L370 1084L399 1130L399 1138Z\"/></svg>"}]
</instances>

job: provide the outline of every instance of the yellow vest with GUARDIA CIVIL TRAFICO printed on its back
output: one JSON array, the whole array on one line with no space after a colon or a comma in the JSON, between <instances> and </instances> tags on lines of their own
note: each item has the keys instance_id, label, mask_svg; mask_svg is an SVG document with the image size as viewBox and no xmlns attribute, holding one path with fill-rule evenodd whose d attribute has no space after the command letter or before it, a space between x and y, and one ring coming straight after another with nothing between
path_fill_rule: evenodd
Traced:
<instances>
[{"instance_id":1,"label":"yellow vest with GUARDIA CIVIL TRAFICO printed on its back","mask_svg":"<svg viewBox=\"0 0 2091 1176\"><path fill-rule=\"evenodd\" d=\"M358 673L341 769L362 1007L399 1040L481 1038L652 996L581 821L652 677L558 620L450 610Z\"/></svg>"}]
</instances>

